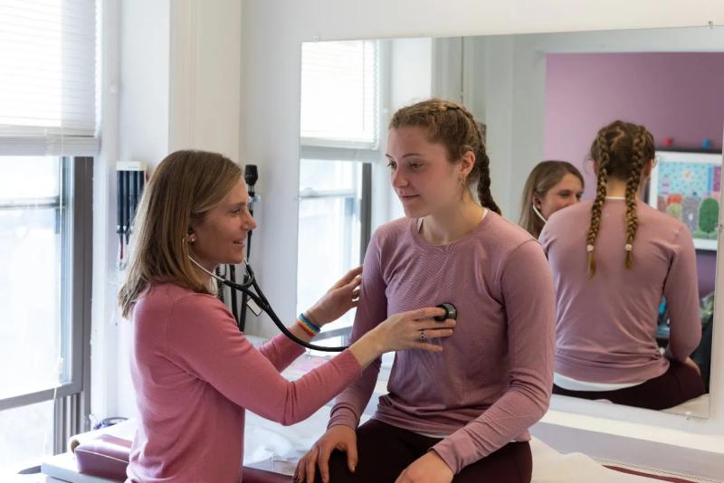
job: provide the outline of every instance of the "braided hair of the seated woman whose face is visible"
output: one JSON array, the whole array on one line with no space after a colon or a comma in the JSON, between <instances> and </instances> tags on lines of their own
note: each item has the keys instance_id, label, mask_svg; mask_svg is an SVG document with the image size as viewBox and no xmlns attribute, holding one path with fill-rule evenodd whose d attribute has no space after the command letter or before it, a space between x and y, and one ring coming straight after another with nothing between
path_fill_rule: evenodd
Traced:
<instances>
[{"instance_id":1,"label":"braided hair of the seated woman whose face is visible","mask_svg":"<svg viewBox=\"0 0 724 483\"><path fill-rule=\"evenodd\" d=\"M472 151L475 164L468 175L468 186L477 182L481 205L500 214L491 194L491 161L485 152L481 129L468 109L449 100L424 100L395 112L389 128L405 126L425 128L428 140L442 144L451 163L457 163L465 153Z\"/></svg>"}]
</instances>

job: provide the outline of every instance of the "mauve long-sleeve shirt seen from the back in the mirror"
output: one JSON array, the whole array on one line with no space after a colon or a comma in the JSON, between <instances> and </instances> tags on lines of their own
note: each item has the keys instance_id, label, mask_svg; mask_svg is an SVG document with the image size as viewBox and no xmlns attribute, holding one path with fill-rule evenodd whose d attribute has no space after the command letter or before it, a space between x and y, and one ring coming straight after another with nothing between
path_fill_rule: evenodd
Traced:
<instances>
[{"instance_id":1,"label":"mauve long-sleeve shirt seen from the back in the mirror","mask_svg":"<svg viewBox=\"0 0 724 483\"><path fill-rule=\"evenodd\" d=\"M626 269L626 204L606 199L595 240L595 275L589 279L592 203L553 213L540 233L557 293L556 373L589 383L643 383L669 366L656 344L662 296L671 317L670 356L684 361L700 342L691 232L639 200L633 268Z\"/></svg>"}]
</instances>

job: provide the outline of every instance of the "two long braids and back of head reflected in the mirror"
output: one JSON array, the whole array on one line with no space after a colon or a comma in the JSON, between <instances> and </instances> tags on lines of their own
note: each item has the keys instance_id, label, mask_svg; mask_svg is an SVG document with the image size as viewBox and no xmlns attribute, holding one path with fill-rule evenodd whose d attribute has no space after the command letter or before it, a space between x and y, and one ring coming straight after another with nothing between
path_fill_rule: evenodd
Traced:
<instances>
[{"instance_id":1,"label":"two long braids and back of head reflected in the mirror","mask_svg":"<svg viewBox=\"0 0 724 483\"><path fill-rule=\"evenodd\" d=\"M601 210L605 203L606 182L615 177L626 182L626 237L624 266L633 267L633 240L638 229L636 194L641 184L643 166L653 160L653 135L643 126L616 120L598 131L590 152L598 166L594 204L591 206L591 224L586 237L588 275L595 274L595 237L601 227Z\"/></svg>"}]
</instances>

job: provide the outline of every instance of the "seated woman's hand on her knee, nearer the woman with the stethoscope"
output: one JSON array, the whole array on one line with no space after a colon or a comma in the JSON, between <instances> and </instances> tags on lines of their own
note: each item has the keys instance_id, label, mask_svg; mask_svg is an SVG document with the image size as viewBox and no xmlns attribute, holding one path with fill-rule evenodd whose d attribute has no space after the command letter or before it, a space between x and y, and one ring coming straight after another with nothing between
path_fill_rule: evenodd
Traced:
<instances>
[{"instance_id":1,"label":"seated woman's hand on her knee, nearer the woman with the stethoscope","mask_svg":"<svg viewBox=\"0 0 724 483\"><path fill-rule=\"evenodd\" d=\"M347 453L348 469L354 473L357 469L357 432L349 426L337 425L329 428L300 459L294 470L294 480L313 483L319 466L322 481L329 482L329 457L333 450Z\"/></svg>"}]
</instances>

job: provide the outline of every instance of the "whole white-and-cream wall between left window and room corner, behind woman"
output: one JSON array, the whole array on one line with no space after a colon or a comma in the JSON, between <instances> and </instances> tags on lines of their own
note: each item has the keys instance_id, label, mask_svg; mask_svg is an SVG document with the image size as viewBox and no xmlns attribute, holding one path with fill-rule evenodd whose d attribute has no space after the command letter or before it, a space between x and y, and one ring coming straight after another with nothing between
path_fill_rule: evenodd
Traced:
<instances>
[{"instance_id":1,"label":"whole white-and-cream wall between left window and room corner, behind woman","mask_svg":"<svg viewBox=\"0 0 724 483\"><path fill-rule=\"evenodd\" d=\"M91 412L136 412L129 323L119 316L116 173L170 151L210 149L239 159L242 6L236 0L105 0L102 149L94 186ZM203 5L203 7L202 7ZM132 242L132 238L131 238Z\"/></svg>"}]
</instances>

